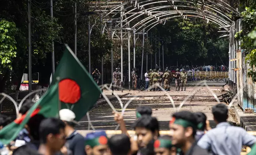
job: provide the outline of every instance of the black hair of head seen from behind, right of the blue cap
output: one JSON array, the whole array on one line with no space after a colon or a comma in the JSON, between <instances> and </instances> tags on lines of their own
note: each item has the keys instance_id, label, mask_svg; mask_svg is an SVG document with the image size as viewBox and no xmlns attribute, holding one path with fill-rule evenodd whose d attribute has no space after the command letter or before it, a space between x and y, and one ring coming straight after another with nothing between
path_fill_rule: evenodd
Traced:
<instances>
[{"instance_id":1,"label":"black hair of head seen from behind, right of the blue cap","mask_svg":"<svg viewBox=\"0 0 256 155\"><path fill-rule=\"evenodd\" d=\"M112 155L128 155L131 149L130 138L126 134L116 134L108 141Z\"/></svg>"}]
</instances>

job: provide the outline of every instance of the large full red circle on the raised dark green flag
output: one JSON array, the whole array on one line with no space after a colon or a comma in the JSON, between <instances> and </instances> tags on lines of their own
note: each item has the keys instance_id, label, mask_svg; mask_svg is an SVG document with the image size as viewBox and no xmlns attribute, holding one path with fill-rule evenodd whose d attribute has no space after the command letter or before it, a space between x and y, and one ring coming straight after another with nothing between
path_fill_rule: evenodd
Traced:
<instances>
[{"instance_id":1,"label":"large full red circle on the raised dark green flag","mask_svg":"<svg viewBox=\"0 0 256 155\"><path fill-rule=\"evenodd\" d=\"M59 100L64 103L75 104L81 98L81 89L72 79L63 79L59 82Z\"/></svg>"}]
</instances>

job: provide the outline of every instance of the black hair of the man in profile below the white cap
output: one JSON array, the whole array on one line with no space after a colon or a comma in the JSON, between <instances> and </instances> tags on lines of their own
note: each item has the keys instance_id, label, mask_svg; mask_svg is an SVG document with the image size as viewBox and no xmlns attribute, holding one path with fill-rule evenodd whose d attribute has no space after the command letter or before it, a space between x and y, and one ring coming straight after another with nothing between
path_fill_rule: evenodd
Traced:
<instances>
[{"instance_id":1,"label":"black hair of the man in profile below the white cap","mask_svg":"<svg viewBox=\"0 0 256 155\"><path fill-rule=\"evenodd\" d=\"M57 118L44 119L39 126L40 142L45 144L47 142L48 134L59 134L60 129L65 128L65 123Z\"/></svg>"}]
</instances>

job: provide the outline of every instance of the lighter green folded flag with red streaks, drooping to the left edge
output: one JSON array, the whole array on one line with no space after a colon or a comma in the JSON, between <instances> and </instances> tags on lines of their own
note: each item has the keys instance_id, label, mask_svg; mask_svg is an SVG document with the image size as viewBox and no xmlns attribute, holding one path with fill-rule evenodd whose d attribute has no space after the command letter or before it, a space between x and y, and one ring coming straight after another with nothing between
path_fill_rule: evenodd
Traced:
<instances>
[{"instance_id":1,"label":"lighter green folded flag with red streaks, drooping to the left edge","mask_svg":"<svg viewBox=\"0 0 256 155\"><path fill-rule=\"evenodd\" d=\"M58 116L58 111L58 84L55 84L47 90L45 95L43 95L25 115L22 115L21 118L14 120L0 130L0 142L9 144L17 137L19 131L24 128L30 117L33 117L37 113L40 113L45 117L56 117Z\"/></svg>"}]
</instances>

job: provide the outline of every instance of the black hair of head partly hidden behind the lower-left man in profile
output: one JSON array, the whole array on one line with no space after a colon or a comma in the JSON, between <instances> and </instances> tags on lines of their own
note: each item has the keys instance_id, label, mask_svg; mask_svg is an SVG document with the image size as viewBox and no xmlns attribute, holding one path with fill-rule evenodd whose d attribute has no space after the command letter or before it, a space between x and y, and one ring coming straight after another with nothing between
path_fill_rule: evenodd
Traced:
<instances>
[{"instance_id":1,"label":"black hair of head partly hidden behind the lower-left man in profile","mask_svg":"<svg viewBox=\"0 0 256 155\"><path fill-rule=\"evenodd\" d=\"M44 119L45 116L36 114L27 122L27 126L29 127L29 134L32 136L33 140L39 140L39 126Z\"/></svg>"}]
</instances>

